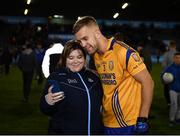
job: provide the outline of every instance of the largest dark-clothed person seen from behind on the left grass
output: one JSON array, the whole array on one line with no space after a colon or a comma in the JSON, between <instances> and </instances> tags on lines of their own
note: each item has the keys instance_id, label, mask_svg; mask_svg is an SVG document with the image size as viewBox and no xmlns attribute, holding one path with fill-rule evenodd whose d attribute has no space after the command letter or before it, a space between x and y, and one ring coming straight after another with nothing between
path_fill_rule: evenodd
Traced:
<instances>
[{"instance_id":1,"label":"largest dark-clothed person seen from behind on the left grass","mask_svg":"<svg viewBox=\"0 0 180 136\"><path fill-rule=\"evenodd\" d=\"M23 76L23 102L28 102L34 71L37 68L36 55L31 43L26 43L25 49L19 56L18 66Z\"/></svg>"}]
</instances>

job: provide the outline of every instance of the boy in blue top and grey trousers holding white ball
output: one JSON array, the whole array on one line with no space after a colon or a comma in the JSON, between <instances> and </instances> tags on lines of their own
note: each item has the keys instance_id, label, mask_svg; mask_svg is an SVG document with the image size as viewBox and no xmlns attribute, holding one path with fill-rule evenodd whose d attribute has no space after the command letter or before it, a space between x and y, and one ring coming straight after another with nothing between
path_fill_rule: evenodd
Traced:
<instances>
[{"instance_id":1,"label":"boy in blue top and grey trousers holding white ball","mask_svg":"<svg viewBox=\"0 0 180 136\"><path fill-rule=\"evenodd\" d=\"M166 67L162 75L166 72L173 75L173 81L168 84L168 92L170 95L169 125L174 126L176 122L180 122L180 52L174 54L173 63Z\"/></svg>"}]
</instances>

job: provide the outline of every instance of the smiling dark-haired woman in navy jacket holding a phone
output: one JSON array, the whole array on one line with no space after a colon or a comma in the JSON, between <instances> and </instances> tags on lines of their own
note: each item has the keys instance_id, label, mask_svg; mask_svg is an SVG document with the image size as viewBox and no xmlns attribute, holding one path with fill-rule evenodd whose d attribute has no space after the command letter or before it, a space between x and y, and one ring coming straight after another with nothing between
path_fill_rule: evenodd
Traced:
<instances>
[{"instance_id":1,"label":"smiling dark-haired woman in navy jacket holding a phone","mask_svg":"<svg viewBox=\"0 0 180 136\"><path fill-rule=\"evenodd\" d=\"M51 117L49 134L103 134L103 91L99 77L85 68L85 60L80 43L68 41L62 53L62 68L48 77L40 109Z\"/></svg>"}]
</instances>

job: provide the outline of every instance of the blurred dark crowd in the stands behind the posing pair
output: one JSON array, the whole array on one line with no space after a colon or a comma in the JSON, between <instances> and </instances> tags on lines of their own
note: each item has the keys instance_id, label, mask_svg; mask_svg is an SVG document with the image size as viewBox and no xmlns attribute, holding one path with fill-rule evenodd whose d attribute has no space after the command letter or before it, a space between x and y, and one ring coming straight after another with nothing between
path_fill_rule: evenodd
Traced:
<instances>
[{"instance_id":1,"label":"blurred dark crowd in the stands behind the posing pair","mask_svg":"<svg viewBox=\"0 0 180 136\"><path fill-rule=\"evenodd\" d=\"M100 26L107 37L115 35L134 49L140 49L150 56L152 63L162 61L170 41L177 43L177 50L180 48L179 25L174 28L157 28L153 24L146 27L143 23L139 27L127 24L108 26L101 23ZM2 72L4 67L6 74L9 72L9 65L17 63L19 54L27 44L31 44L33 50L39 48L39 45L43 50L47 50L52 43L64 44L74 38L72 24L34 24L31 20L12 24L0 20L0 29L0 71Z\"/></svg>"}]
</instances>

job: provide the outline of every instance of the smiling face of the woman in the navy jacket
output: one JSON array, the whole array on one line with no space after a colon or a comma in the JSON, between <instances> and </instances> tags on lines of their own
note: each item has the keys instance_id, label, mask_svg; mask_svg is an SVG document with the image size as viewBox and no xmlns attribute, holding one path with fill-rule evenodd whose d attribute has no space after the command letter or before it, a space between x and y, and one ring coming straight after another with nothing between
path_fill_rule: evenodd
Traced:
<instances>
[{"instance_id":1,"label":"smiling face of the woman in the navy jacket","mask_svg":"<svg viewBox=\"0 0 180 136\"><path fill-rule=\"evenodd\" d=\"M85 66L85 58L81 50L73 50L67 60L66 67L72 72L79 72Z\"/></svg>"}]
</instances>

